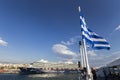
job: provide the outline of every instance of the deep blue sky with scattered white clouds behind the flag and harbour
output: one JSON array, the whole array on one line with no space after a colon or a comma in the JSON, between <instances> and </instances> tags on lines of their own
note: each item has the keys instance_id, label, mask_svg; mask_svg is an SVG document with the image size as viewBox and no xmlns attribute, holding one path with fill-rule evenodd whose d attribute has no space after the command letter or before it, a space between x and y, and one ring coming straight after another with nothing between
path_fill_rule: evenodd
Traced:
<instances>
[{"instance_id":1,"label":"deep blue sky with scattered white clouds behind the flag and harbour","mask_svg":"<svg viewBox=\"0 0 120 80\"><path fill-rule=\"evenodd\" d=\"M111 50L88 50L92 66L120 57L119 0L0 0L0 61L77 61L81 40L78 6L89 28Z\"/></svg>"}]
</instances>

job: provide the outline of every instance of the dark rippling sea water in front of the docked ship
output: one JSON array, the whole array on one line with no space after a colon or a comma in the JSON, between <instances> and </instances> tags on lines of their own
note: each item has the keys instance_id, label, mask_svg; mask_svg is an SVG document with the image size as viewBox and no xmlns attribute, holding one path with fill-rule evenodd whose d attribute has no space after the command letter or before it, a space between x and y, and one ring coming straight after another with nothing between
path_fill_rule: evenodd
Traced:
<instances>
[{"instance_id":1,"label":"dark rippling sea water in front of the docked ship","mask_svg":"<svg viewBox=\"0 0 120 80\"><path fill-rule=\"evenodd\" d=\"M0 80L79 80L79 74L0 74Z\"/></svg>"}]
</instances>

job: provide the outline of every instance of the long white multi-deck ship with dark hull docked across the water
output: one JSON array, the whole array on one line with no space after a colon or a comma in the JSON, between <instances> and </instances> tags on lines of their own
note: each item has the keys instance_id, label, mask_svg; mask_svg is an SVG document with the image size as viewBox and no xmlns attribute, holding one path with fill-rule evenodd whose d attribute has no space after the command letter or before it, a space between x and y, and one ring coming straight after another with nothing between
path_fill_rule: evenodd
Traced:
<instances>
[{"instance_id":1,"label":"long white multi-deck ship with dark hull docked across the water","mask_svg":"<svg viewBox=\"0 0 120 80\"><path fill-rule=\"evenodd\" d=\"M42 74L42 73L79 73L78 63L43 62L37 61L30 64L30 67L20 67L21 74Z\"/></svg>"}]
</instances>

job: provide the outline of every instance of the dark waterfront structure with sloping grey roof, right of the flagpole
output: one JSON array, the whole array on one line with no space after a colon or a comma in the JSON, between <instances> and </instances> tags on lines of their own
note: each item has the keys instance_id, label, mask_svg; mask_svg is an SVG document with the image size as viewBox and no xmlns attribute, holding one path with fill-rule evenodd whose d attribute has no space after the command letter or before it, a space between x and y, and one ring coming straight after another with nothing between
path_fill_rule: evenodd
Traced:
<instances>
[{"instance_id":1,"label":"dark waterfront structure with sloping grey roof, right of the flagpole","mask_svg":"<svg viewBox=\"0 0 120 80\"><path fill-rule=\"evenodd\" d=\"M98 77L110 77L120 79L120 59L108 63L97 70ZM116 79L118 80L118 79Z\"/></svg>"}]
</instances>

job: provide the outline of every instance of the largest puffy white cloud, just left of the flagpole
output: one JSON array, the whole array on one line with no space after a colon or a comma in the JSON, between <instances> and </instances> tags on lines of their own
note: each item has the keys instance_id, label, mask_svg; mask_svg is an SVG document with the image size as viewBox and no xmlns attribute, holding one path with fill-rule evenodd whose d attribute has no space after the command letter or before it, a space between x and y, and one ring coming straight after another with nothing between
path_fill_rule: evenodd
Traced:
<instances>
[{"instance_id":1,"label":"largest puffy white cloud, just left of the flagpole","mask_svg":"<svg viewBox=\"0 0 120 80\"><path fill-rule=\"evenodd\" d=\"M77 56L75 52L72 52L67 46L63 44L53 45L52 50L55 53L62 55L62 57L66 57L66 58L74 58Z\"/></svg>"}]
</instances>

